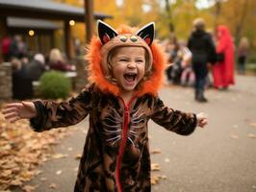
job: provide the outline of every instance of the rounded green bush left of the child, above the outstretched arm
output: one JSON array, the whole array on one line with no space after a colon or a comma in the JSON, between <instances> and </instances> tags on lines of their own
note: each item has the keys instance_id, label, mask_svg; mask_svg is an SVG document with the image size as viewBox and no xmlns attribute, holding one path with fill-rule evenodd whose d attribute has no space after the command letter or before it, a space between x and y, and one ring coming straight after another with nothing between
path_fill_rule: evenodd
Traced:
<instances>
[{"instance_id":1,"label":"rounded green bush left of the child, above the outstretched arm","mask_svg":"<svg viewBox=\"0 0 256 192\"><path fill-rule=\"evenodd\" d=\"M39 81L39 94L45 99L65 99L71 91L70 80L61 72L45 72Z\"/></svg>"}]
</instances>

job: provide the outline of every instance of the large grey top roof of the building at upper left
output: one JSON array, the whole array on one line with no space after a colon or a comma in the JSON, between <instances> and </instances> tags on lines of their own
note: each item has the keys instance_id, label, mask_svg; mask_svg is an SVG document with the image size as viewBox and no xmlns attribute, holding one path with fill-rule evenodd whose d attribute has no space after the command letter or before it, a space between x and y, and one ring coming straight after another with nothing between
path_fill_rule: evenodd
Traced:
<instances>
[{"instance_id":1,"label":"large grey top roof of the building at upper left","mask_svg":"<svg viewBox=\"0 0 256 192\"><path fill-rule=\"evenodd\" d=\"M46 14L45 14L46 13ZM57 3L50 0L0 0L0 14L19 17L85 20L83 8ZM94 12L94 18L112 18L101 12Z\"/></svg>"}]
</instances>

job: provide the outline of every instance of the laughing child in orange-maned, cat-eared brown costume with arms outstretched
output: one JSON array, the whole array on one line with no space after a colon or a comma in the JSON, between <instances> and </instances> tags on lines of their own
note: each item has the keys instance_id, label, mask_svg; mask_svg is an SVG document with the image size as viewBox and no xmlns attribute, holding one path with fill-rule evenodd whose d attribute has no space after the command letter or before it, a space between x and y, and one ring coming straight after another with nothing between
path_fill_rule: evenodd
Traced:
<instances>
[{"instance_id":1,"label":"laughing child in orange-maned, cat-eared brown costume with arms outstretched","mask_svg":"<svg viewBox=\"0 0 256 192\"><path fill-rule=\"evenodd\" d=\"M90 84L68 102L9 104L5 117L28 118L36 132L76 124L90 113L90 129L74 191L150 191L147 122L182 135L207 118L167 108L157 96L166 59L153 42L154 23L118 32L98 22L90 42Z\"/></svg>"}]
</instances>

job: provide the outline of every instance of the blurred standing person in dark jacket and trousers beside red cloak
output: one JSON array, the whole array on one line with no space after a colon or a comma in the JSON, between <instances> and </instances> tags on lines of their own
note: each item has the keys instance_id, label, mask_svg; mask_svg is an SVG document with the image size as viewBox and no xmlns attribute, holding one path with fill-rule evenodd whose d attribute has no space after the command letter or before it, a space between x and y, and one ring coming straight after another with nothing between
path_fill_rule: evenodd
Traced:
<instances>
[{"instance_id":1,"label":"blurred standing person in dark jacket and trousers beside red cloak","mask_svg":"<svg viewBox=\"0 0 256 192\"><path fill-rule=\"evenodd\" d=\"M193 31L188 41L188 48L192 51L192 69L195 74L195 100L207 102L204 96L207 81L207 63L216 62L216 48L212 36L205 32L205 22L202 18L193 21Z\"/></svg>"}]
</instances>

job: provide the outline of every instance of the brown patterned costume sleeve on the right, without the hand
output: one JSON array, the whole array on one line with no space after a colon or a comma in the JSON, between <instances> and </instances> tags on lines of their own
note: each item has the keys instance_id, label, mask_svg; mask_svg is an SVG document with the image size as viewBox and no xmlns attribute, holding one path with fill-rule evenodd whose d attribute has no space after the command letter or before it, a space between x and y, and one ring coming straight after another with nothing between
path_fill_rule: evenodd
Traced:
<instances>
[{"instance_id":1,"label":"brown patterned costume sleeve on the right, without the hand","mask_svg":"<svg viewBox=\"0 0 256 192\"><path fill-rule=\"evenodd\" d=\"M171 132L182 135L191 134L196 127L196 115L167 108L163 101L157 98L151 119Z\"/></svg>"}]
</instances>

